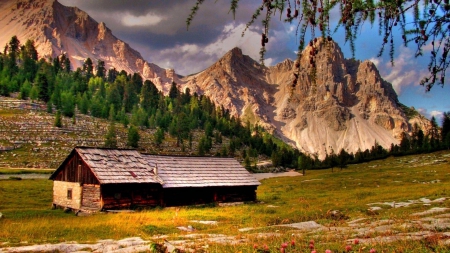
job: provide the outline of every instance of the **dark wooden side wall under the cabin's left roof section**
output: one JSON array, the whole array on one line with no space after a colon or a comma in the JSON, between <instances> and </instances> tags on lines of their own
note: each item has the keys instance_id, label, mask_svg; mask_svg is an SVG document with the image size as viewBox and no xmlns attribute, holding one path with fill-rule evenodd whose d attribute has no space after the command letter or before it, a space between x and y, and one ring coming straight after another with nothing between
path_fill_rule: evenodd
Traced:
<instances>
[{"instance_id":1,"label":"dark wooden side wall under the cabin's left roof section","mask_svg":"<svg viewBox=\"0 0 450 253\"><path fill-rule=\"evenodd\" d=\"M103 209L139 208L162 204L159 184L107 184L101 186Z\"/></svg>"}]
</instances>

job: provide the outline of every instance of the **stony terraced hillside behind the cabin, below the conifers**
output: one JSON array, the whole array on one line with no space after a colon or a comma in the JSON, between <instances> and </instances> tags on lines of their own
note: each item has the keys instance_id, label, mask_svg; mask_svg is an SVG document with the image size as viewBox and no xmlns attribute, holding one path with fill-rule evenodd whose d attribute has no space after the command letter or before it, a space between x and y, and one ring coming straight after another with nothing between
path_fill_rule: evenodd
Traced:
<instances>
[{"instance_id":1,"label":"stony terraced hillside behind the cabin, below the conifers","mask_svg":"<svg viewBox=\"0 0 450 253\"><path fill-rule=\"evenodd\" d=\"M57 168L75 146L102 147L109 121L84 114L76 120L63 117L63 126L55 127L55 114L46 112L46 105L30 101L0 97L0 167ZM130 148L127 129L116 124L119 148ZM140 129L139 150L153 154L196 155L203 131L193 131L192 147L176 144L176 138L166 134L164 142L154 144L155 129ZM228 140L224 138L223 144ZM213 144L211 153L222 144Z\"/></svg>"}]
</instances>

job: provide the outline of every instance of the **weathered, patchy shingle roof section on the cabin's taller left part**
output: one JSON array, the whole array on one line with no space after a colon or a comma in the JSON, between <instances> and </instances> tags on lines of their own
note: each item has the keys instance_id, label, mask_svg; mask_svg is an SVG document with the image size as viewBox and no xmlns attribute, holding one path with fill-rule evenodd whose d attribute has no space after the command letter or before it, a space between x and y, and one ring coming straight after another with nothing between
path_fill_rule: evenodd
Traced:
<instances>
[{"instance_id":1,"label":"weathered, patchy shingle roof section on the cabin's taller left part","mask_svg":"<svg viewBox=\"0 0 450 253\"><path fill-rule=\"evenodd\" d=\"M75 148L101 184L161 183L152 166L136 150Z\"/></svg>"}]
</instances>

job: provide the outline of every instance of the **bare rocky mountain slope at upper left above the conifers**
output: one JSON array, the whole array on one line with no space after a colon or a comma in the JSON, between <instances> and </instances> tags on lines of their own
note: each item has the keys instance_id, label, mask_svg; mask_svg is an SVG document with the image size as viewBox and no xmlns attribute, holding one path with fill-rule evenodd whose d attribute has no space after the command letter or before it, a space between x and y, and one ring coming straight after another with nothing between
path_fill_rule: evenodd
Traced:
<instances>
[{"instance_id":1,"label":"bare rocky mountain slope at upper left above the conifers","mask_svg":"<svg viewBox=\"0 0 450 253\"><path fill-rule=\"evenodd\" d=\"M98 59L105 61L106 68L140 73L164 91L172 81L179 82L173 70L146 62L104 23L97 23L84 11L63 6L56 0L0 1L0 33L0 45L6 45L14 35L22 43L33 39L39 57L54 58L67 53L73 69L81 67L89 57L94 64Z\"/></svg>"}]
</instances>

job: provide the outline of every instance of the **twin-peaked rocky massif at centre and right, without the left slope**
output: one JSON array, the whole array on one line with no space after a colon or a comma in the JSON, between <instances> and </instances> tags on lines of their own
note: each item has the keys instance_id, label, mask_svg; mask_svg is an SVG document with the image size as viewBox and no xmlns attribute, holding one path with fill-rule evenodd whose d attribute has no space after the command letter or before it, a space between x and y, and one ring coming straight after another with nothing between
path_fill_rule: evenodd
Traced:
<instances>
[{"instance_id":1,"label":"twin-peaked rocky massif at centre and right, without the left slope","mask_svg":"<svg viewBox=\"0 0 450 253\"><path fill-rule=\"evenodd\" d=\"M302 52L299 68L290 60L263 67L235 48L205 71L183 79L182 86L322 158L342 148L370 149L375 142L389 148L410 132L397 94L373 63L345 59L332 41L319 39L313 46L314 53L311 46ZM294 73L298 79L292 89Z\"/></svg>"}]
</instances>

